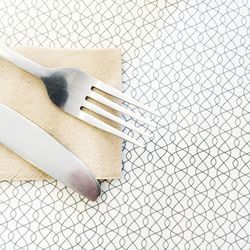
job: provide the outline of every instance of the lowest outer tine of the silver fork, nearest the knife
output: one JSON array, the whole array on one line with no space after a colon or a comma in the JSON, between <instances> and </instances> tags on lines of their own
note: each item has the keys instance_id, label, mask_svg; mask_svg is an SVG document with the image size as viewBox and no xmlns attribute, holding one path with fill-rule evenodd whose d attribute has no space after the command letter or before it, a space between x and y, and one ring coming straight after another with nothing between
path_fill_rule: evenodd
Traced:
<instances>
[{"instance_id":1,"label":"lowest outer tine of the silver fork, nearest the knife","mask_svg":"<svg viewBox=\"0 0 250 250\"><path fill-rule=\"evenodd\" d=\"M141 144L139 143L137 140L135 140L134 138L126 135L125 133L119 131L118 129L106 124L105 122L103 121L100 121L99 119L95 118L94 116L84 112L84 111L81 111L79 113L77 113L77 118L96 127L96 128L99 128L99 129L102 129L106 132L109 132L111 134L114 134L118 137L121 137L122 139L124 140L127 140L129 142L132 142L133 144L139 146L139 147L142 147L142 148L145 148L145 144Z\"/></svg>"}]
</instances>

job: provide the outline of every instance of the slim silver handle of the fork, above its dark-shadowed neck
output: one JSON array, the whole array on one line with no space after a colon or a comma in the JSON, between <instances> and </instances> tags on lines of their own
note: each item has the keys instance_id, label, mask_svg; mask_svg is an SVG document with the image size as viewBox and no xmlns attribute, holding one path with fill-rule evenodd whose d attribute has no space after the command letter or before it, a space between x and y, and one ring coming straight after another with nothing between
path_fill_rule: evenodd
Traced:
<instances>
[{"instance_id":1,"label":"slim silver handle of the fork, above its dark-shadowed neck","mask_svg":"<svg viewBox=\"0 0 250 250\"><path fill-rule=\"evenodd\" d=\"M0 57L39 78L48 76L49 70L47 68L43 67L38 63L33 62L27 57L22 56L9 48L0 47Z\"/></svg>"}]
</instances>

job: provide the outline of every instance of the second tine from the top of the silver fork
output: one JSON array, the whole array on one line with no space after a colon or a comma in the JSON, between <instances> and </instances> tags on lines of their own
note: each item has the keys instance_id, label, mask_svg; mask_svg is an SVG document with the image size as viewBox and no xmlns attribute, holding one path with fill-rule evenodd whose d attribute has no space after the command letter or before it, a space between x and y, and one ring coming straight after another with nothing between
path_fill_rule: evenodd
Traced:
<instances>
[{"instance_id":1,"label":"second tine from the top of the silver fork","mask_svg":"<svg viewBox=\"0 0 250 250\"><path fill-rule=\"evenodd\" d=\"M126 114L126 115L129 115L130 117L138 120L138 121L141 121L145 124L148 124L152 127L156 127L157 125L154 123L154 122L151 122L151 121L148 121L147 119L145 119L144 117L140 116L140 115L137 115L136 113L130 111L129 109L126 109L126 108L123 108L121 105L113 102L113 101L110 101L108 98L94 92L94 91L91 91L88 95L88 97L114 109L114 110L117 110L123 114Z\"/></svg>"}]
</instances>

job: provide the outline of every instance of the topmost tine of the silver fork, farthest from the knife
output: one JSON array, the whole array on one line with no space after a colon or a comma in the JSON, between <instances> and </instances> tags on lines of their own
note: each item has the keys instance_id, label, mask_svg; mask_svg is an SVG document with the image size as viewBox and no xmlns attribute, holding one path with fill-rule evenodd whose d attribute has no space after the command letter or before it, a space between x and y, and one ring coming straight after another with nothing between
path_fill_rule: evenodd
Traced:
<instances>
[{"instance_id":1,"label":"topmost tine of the silver fork, farthest from the knife","mask_svg":"<svg viewBox=\"0 0 250 250\"><path fill-rule=\"evenodd\" d=\"M161 116L159 114L159 112L157 112L157 111L153 110L152 108L147 107L146 105L134 100L132 97L122 93L120 90L118 90L116 88L113 88L113 87L107 85L104 82L101 82L100 80L98 80L96 83L94 83L93 86L97 89L102 90L103 92L105 92L107 94L110 94L118 99L123 100L123 101L129 102L129 103L133 104L134 106L137 106L141 109L144 109L145 111L148 111L148 112L150 112L158 117Z\"/></svg>"}]
</instances>

